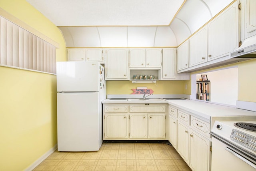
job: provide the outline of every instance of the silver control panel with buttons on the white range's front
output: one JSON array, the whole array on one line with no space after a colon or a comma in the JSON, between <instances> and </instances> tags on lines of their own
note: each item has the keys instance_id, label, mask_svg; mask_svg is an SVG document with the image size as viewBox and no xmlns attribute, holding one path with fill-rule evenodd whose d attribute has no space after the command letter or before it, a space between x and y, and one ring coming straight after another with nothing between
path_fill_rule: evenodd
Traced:
<instances>
[{"instance_id":1,"label":"silver control panel with buttons on the white range's front","mask_svg":"<svg viewBox=\"0 0 256 171\"><path fill-rule=\"evenodd\" d=\"M246 133L233 129L230 138L233 141L236 141L244 145L245 147L248 147L249 149L256 151L256 137L247 135Z\"/></svg>"}]
</instances>

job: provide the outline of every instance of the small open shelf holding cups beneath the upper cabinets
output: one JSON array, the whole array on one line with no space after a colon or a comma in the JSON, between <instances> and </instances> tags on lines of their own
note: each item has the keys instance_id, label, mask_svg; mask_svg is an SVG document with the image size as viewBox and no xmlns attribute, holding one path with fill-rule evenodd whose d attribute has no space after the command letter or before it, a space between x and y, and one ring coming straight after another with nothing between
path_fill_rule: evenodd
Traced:
<instances>
[{"instance_id":1,"label":"small open shelf holding cups beneath the upper cabinets","mask_svg":"<svg viewBox=\"0 0 256 171\"><path fill-rule=\"evenodd\" d=\"M130 81L132 83L156 83L156 81L160 78L160 69L150 69L145 70L145 68L139 69L131 69L130 68Z\"/></svg>"}]
</instances>

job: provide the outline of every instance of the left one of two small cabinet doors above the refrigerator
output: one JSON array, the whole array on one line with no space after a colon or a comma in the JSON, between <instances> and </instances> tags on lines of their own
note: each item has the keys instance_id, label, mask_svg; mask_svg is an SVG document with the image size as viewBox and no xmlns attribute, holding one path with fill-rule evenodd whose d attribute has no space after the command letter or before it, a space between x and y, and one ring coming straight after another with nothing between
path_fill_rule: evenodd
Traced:
<instances>
[{"instance_id":1,"label":"left one of two small cabinet doors above the refrigerator","mask_svg":"<svg viewBox=\"0 0 256 171\"><path fill-rule=\"evenodd\" d=\"M69 48L68 61L84 61L85 51L84 48Z\"/></svg>"}]
</instances>

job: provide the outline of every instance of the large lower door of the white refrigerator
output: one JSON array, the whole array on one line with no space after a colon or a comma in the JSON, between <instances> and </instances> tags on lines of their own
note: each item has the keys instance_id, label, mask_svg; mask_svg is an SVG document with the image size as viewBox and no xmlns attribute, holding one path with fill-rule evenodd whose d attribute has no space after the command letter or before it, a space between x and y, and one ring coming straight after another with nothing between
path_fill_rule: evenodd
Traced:
<instances>
[{"instance_id":1,"label":"large lower door of the white refrigerator","mask_svg":"<svg viewBox=\"0 0 256 171\"><path fill-rule=\"evenodd\" d=\"M58 151L99 150L102 144L100 105L98 92L57 93Z\"/></svg>"}]
</instances>

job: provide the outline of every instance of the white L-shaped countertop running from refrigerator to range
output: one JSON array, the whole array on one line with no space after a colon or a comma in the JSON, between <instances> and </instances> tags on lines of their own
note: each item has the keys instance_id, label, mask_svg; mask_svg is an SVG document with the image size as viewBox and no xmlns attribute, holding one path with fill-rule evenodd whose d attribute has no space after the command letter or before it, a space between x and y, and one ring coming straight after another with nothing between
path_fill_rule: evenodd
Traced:
<instances>
[{"instance_id":1,"label":"white L-shaped countertop running from refrigerator to range","mask_svg":"<svg viewBox=\"0 0 256 171\"><path fill-rule=\"evenodd\" d=\"M205 121L210 121L211 116L244 116L244 115L253 115L256 116L256 112L248 111L244 109L237 109L235 107L228 107L225 105L218 105L213 103L207 103L197 100L165 100L165 101L128 101L127 99L105 99L102 101L105 104L134 104L134 103L165 103L173 105L178 109L185 110L192 115L199 117Z\"/></svg>"}]
</instances>

